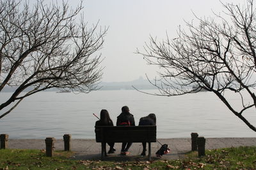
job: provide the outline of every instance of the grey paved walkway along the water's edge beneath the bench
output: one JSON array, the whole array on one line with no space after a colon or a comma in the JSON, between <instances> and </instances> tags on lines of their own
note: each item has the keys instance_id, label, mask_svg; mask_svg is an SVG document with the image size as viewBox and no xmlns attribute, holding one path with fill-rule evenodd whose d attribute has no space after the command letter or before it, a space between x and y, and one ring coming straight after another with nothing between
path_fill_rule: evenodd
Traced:
<instances>
[{"instance_id":1,"label":"grey paved walkway along the water's edge beneath the bench","mask_svg":"<svg viewBox=\"0 0 256 170\"><path fill-rule=\"evenodd\" d=\"M182 159L184 154L191 150L190 138L157 139L162 144L167 144L171 152L163 155L161 159ZM74 159L100 159L100 143L95 139L72 139L71 149L76 152ZM142 150L141 143L133 143L128 156L120 156L121 143L116 143L116 153L109 154L106 160L147 160L147 157L140 157ZM55 150L63 150L63 139L56 139ZM205 149L228 148L238 146L256 146L256 138L206 138ZM152 143L152 159L156 159L156 151L161 147L159 143ZM44 139L9 139L8 148L20 149L45 149ZM107 146L108 151L108 146Z\"/></svg>"}]
</instances>

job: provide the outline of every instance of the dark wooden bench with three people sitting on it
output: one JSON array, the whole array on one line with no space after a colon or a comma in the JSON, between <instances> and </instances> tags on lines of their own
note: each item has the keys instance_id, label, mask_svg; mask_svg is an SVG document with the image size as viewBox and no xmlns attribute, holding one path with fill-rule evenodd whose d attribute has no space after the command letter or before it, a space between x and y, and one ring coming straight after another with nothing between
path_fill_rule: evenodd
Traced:
<instances>
[{"instance_id":1,"label":"dark wooden bench with three people sitting on it","mask_svg":"<svg viewBox=\"0 0 256 170\"><path fill-rule=\"evenodd\" d=\"M148 143L148 160L151 142L156 142L156 126L95 126L96 142L101 143L101 159L106 153L106 143Z\"/></svg>"}]
</instances>

